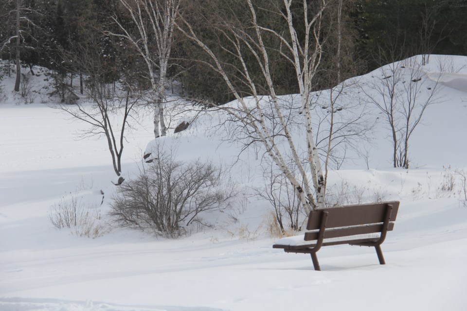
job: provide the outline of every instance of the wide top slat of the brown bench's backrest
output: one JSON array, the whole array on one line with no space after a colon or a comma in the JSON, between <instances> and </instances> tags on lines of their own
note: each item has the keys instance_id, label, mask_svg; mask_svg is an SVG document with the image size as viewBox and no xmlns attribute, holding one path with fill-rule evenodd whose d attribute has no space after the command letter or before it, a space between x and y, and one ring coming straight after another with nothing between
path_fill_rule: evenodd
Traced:
<instances>
[{"instance_id":1,"label":"wide top slat of the brown bench's backrest","mask_svg":"<svg viewBox=\"0 0 467 311\"><path fill-rule=\"evenodd\" d=\"M316 209L310 212L306 229L319 229L324 211L329 213L326 228L382 223L388 204L393 206L390 221L394 222L399 209L398 201Z\"/></svg>"}]
</instances>

